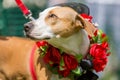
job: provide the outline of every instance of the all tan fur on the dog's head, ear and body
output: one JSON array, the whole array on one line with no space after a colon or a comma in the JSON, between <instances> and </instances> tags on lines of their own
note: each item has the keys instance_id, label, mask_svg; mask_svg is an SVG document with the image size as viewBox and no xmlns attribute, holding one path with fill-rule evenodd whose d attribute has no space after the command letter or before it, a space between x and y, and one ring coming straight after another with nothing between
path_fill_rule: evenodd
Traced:
<instances>
[{"instance_id":1,"label":"all tan fur on the dog's head, ear and body","mask_svg":"<svg viewBox=\"0 0 120 80\"><path fill-rule=\"evenodd\" d=\"M57 16L50 18L52 13ZM88 34L92 35L96 29L90 22L67 7L53 9L45 21L52 27L55 34L60 33L60 36L63 37L70 36L81 28L85 28ZM60 24L56 25L56 23ZM0 37L0 80L32 80L29 71L29 57L34 45L35 41L30 39ZM34 55L34 66L38 80L50 79L51 73L40 57L38 49Z\"/></svg>"}]
</instances>

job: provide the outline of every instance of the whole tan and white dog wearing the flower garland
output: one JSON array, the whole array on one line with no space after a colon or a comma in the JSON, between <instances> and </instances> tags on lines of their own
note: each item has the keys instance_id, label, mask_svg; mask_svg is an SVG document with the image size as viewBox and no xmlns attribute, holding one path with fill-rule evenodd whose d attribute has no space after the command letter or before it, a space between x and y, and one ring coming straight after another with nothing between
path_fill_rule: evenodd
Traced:
<instances>
[{"instance_id":1,"label":"whole tan and white dog wearing the flower garland","mask_svg":"<svg viewBox=\"0 0 120 80\"><path fill-rule=\"evenodd\" d=\"M26 35L34 39L45 39L49 44L72 55L86 55L89 48L88 34L95 27L69 7L50 7L39 14L39 18L25 24ZM35 41L18 37L0 37L0 80L32 80L29 58ZM40 57L38 48L34 54L37 80L59 79L52 74Z\"/></svg>"}]
</instances>

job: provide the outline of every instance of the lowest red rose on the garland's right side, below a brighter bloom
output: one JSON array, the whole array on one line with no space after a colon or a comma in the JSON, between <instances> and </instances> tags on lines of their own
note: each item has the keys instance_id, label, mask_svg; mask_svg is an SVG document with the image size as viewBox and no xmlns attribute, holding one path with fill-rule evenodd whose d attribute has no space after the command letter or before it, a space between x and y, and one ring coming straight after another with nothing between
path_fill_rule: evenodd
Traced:
<instances>
[{"instance_id":1,"label":"lowest red rose on the garland's right side, below a brighter bloom","mask_svg":"<svg viewBox=\"0 0 120 80\"><path fill-rule=\"evenodd\" d=\"M95 69L96 72L103 71L106 64L107 64L107 58L104 59L93 59L93 69Z\"/></svg>"}]
</instances>

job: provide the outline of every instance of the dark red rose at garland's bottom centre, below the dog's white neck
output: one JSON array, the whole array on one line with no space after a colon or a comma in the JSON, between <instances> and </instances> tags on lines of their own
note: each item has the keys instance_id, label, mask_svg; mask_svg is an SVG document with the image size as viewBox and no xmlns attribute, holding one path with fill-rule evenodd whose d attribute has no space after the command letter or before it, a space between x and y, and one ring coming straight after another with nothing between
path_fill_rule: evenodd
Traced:
<instances>
[{"instance_id":1,"label":"dark red rose at garland's bottom centre, below the dog's white neck","mask_svg":"<svg viewBox=\"0 0 120 80\"><path fill-rule=\"evenodd\" d=\"M68 69L73 70L77 68L78 62L73 55L64 54L63 59L64 59L65 66Z\"/></svg>"}]
</instances>

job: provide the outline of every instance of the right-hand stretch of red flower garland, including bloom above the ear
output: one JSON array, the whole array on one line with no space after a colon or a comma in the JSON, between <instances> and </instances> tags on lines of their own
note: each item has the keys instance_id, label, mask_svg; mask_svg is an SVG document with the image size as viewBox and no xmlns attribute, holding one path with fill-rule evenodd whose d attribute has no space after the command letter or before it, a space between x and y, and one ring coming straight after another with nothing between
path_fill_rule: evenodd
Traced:
<instances>
[{"instance_id":1,"label":"right-hand stretch of red flower garland, including bloom above the ear","mask_svg":"<svg viewBox=\"0 0 120 80\"><path fill-rule=\"evenodd\" d=\"M81 16L92 23L92 16L81 14ZM108 56L110 55L110 48L108 44L108 37L102 30L97 29L94 35L89 36L90 49L87 59L93 64L93 69L96 72L103 71L107 62Z\"/></svg>"}]
</instances>

